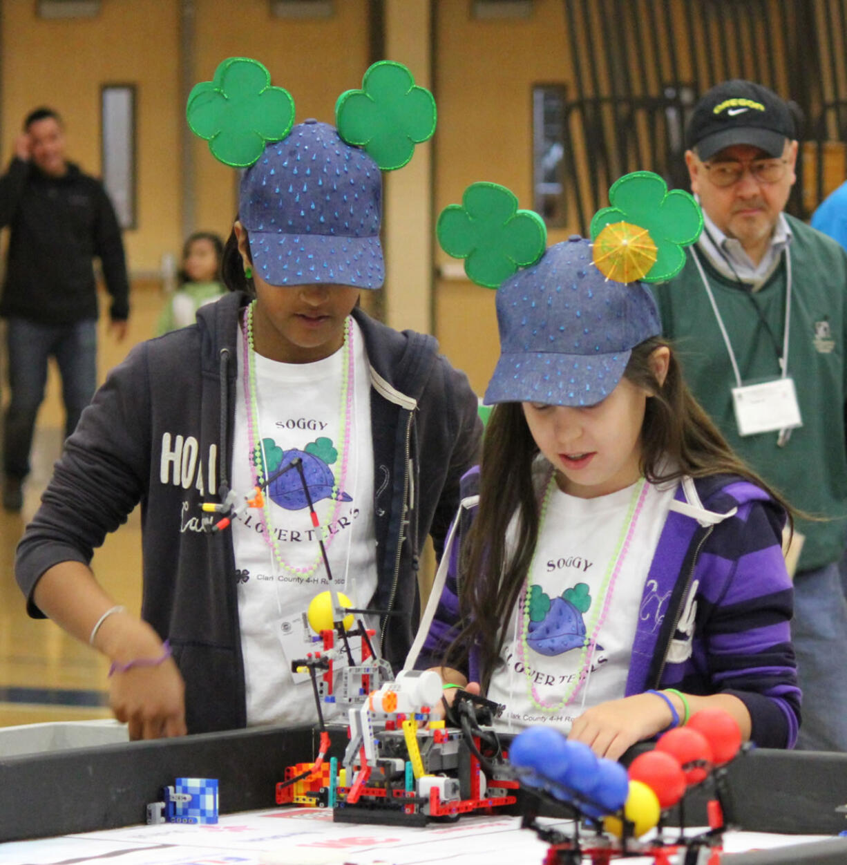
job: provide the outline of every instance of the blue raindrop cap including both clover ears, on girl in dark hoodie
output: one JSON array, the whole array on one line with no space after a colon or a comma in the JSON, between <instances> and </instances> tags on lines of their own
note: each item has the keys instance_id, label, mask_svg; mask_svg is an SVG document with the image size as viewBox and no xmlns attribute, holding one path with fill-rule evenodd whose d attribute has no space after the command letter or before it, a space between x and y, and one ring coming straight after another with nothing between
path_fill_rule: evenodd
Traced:
<instances>
[{"instance_id":1,"label":"blue raindrop cap including both clover ears, on girl in dark hoodie","mask_svg":"<svg viewBox=\"0 0 847 865\"><path fill-rule=\"evenodd\" d=\"M432 138L433 94L401 63L378 61L336 102L336 126L294 126L294 100L250 57L221 61L189 93L191 130L222 163L246 169L239 219L255 271L271 285L379 288L382 171Z\"/></svg>"}]
</instances>

